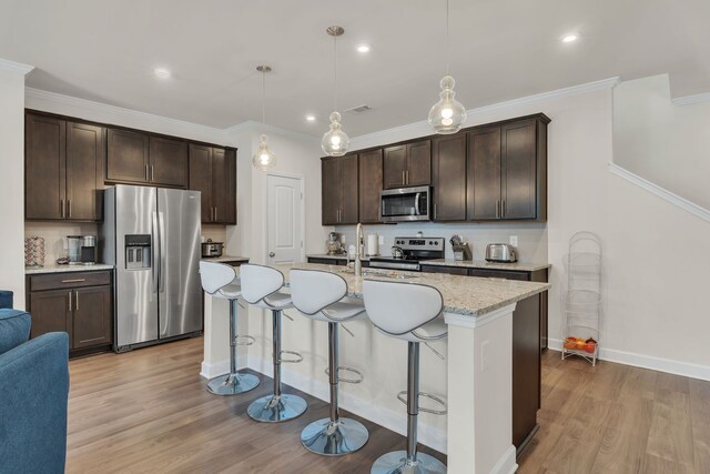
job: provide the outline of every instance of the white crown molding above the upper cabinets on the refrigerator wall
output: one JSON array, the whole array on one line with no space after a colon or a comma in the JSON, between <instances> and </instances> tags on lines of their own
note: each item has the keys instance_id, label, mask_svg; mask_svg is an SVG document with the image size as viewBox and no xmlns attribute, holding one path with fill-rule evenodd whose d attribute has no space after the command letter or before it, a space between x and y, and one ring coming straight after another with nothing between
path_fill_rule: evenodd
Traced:
<instances>
[{"instance_id":1,"label":"white crown molding above the upper cabinets on the refrigerator wall","mask_svg":"<svg viewBox=\"0 0 710 474\"><path fill-rule=\"evenodd\" d=\"M155 115L153 113L141 112L138 110L126 109L118 105L110 105L102 102L95 102L88 99L80 99L71 95L64 95L57 92L49 92L40 89L24 88L24 97L27 99L37 99L40 101L51 102L60 105L78 107L92 112L105 113L125 119L140 119L154 124L164 124L181 127L212 135L224 135L224 130L213 127L201 125L199 123L187 122L184 120L171 119L168 117Z\"/></svg>"}]
</instances>

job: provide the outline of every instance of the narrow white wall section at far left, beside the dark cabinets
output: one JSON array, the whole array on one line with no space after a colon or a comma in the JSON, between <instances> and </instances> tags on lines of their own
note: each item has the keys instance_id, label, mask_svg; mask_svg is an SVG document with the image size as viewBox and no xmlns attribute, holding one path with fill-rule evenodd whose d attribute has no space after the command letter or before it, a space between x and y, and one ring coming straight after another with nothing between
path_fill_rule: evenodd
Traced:
<instances>
[{"instance_id":1,"label":"narrow white wall section at far left, beside the dark cabinets","mask_svg":"<svg viewBox=\"0 0 710 474\"><path fill-rule=\"evenodd\" d=\"M24 309L24 74L31 68L0 59L0 289Z\"/></svg>"}]
</instances>

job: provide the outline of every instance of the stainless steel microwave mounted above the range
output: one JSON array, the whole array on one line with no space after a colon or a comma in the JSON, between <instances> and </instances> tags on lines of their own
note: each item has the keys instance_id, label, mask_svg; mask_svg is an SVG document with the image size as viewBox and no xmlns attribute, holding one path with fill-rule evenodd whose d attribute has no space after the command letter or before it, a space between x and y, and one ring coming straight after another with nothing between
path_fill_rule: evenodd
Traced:
<instances>
[{"instance_id":1,"label":"stainless steel microwave mounted above the range","mask_svg":"<svg viewBox=\"0 0 710 474\"><path fill-rule=\"evenodd\" d=\"M428 221L432 188L399 188L379 193L382 222Z\"/></svg>"}]
</instances>

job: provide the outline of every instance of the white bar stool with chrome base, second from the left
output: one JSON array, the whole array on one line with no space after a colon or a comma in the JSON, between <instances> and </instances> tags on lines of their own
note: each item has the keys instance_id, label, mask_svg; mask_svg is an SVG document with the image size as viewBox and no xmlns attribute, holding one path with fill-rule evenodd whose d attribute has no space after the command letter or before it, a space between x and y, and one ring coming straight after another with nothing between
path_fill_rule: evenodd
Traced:
<instances>
[{"instance_id":1,"label":"white bar stool with chrome base, second from the left","mask_svg":"<svg viewBox=\"0 0 710 474\"><path fill-rule=\"evenodd\" d=\"M293 307L291 295L281 293L284 275L276 269L263 265L244 264L240 266L240 282L244 300L258 307L271 310L273 321L273 361L274 361L274 393L255 400L246 409L246 413L257 422L278 423L301 416L308 404L298 395L281 393L281 363L301 362L282 359L283 353L295 354L281 350L281 314L283 310Z\"/></svg>"}]
</instances>

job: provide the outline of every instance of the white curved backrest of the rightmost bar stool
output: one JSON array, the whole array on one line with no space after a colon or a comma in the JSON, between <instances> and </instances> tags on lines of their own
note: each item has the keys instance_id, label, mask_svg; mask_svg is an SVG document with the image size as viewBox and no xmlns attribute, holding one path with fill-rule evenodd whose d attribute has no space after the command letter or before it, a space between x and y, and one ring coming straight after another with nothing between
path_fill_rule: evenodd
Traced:
<instances>
[{"instance_id":1,"label":"white curved backrest of the rightmost bar stool","mask_svg":"<svg viewBox=\"0 0 710 474\"><path fill-rule=\"evenodd\" d=\"M373 324L393 335L434 321L444 309L442 293L423 284L365 280L363 296Z\"/></svg>"}]
</instances>

